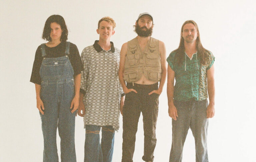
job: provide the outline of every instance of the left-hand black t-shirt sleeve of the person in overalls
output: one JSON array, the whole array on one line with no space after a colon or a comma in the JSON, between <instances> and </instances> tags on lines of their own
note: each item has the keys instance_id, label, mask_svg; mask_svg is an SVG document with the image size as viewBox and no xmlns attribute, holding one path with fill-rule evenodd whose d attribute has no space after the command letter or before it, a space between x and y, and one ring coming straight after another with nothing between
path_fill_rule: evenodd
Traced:
<instances>
[{"instance_id":1,"label":"left-hand black t-shirt sleeve of the person in overalls","mask_svg":"<svg viewBox=\"0 0 256 162\"><path fill-rule=\"evenodd\" d=\"M41 84L41 77L40 77L39 71L40 71L42 61L43 61L42 51L39 45L35 54L35 60L34 60L33 69L30 77L30 82Z\"/></svg>"}]
</instances>

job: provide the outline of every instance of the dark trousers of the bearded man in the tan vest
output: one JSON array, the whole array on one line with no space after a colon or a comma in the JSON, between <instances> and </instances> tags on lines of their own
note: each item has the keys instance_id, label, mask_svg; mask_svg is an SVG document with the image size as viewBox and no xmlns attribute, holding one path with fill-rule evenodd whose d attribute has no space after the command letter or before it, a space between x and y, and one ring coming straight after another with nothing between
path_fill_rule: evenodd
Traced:
<instances>
[{"instance_id":1,"label":"dark trousers of the bearded man in the tan vest","mask_svg":"<svg viewBox=\"0 0 256 162\"><path fill-rule=\"evenodd\" d=\"M158 116L159 95L151 91L158 89L158 83L153 85L140 85L127 83L127 88L133 88L138 93L126 94L123 108L123 153L122 162L132 162L135 148L135 138L140 113L143 116L144 129L144 161L154 160L156 146L156 121Z\"/></svg>"}]
</instances>

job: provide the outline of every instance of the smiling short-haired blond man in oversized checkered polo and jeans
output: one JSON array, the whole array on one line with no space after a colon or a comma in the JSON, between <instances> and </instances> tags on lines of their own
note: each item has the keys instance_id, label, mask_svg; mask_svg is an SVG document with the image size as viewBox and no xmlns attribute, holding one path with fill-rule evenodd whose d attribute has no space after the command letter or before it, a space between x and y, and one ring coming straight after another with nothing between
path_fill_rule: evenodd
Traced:
<instances>
[{"instance_id":1,"label":"smiling short-haired blond man in oversized checkered polo and jeans","mask_svg":"<svg viewBox=\"0 0 256 162\"><path fill-rule=\"evenodd\" d=\"M84 162L112 161L114 135L119 129L119 110L124 104L118 80L120 50L110 41L115 27L112 18L100 19L99 41L85 47L81 53L84 71L81 73L78 115L84 117L86 130Z\"/></svg>"}]
</instances>

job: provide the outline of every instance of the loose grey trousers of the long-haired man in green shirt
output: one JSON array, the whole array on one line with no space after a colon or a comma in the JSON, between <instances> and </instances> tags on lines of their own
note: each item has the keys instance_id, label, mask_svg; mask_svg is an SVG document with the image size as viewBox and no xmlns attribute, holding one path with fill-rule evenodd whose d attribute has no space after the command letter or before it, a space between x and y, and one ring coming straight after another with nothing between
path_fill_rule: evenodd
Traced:
<instances>
[{"instance_id":1,"label":"loose grey trousers of the long-haired man in green shirt","mask_svg":"<svg viewBox=\"0 0 256 162\"><path fill-rule=\"evenodd\" d=\"M181 162L182 150L188 133L192 130L195 138L196 162L208 162L206 118L207 100L174 101L178 111L177 120L172 120L172 148L169 162Z\"/></svg>"}]
</instances>

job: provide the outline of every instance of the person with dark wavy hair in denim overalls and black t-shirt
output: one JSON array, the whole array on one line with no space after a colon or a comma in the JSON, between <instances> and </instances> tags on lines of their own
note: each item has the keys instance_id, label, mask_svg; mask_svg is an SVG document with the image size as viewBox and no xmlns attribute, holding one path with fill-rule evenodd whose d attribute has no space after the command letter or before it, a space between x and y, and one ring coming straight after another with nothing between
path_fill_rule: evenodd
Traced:
<instances>
[{"instance_id":1,"label":"person with dark wavy hair in denim overalls and black t-shirt","mask_svg":"<svg viewBox=\"0 0 256 162\"><path fill-rule=\"evenodd\" d=\"M67 35L68 31L63 17L52 15L46 20L42 38L49 42L38 47L37 52L41 56L37 56L36 53L31 75L31 82L34 82L36 87L37 108L42 120L44 162L58 161L57 127L61 139L61 161L76 162L75 116L79 101L82 63L75 44L66 41ZM77 50L78 56L77 54L70 56L73 54L70 53L71 47ZM63 52L60 52L60 49L63 49ZM47 53L47 51L53 52ZM36 59L37 57L42 59L40 68L38 66L40 61ZM76 61L74 61L75 57ZM70 58L73 58L73 64ZM77 69L78 66L80 67ZM74 67L79 74L74 75ZM33 79L36 78L33 77L36 75L35 71L39 72L40 76L38 77L41 79L41 83L33 81L36 80Z\"/></svg>"}]
</instances>

